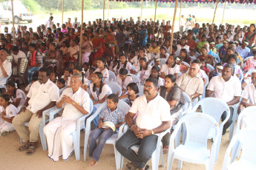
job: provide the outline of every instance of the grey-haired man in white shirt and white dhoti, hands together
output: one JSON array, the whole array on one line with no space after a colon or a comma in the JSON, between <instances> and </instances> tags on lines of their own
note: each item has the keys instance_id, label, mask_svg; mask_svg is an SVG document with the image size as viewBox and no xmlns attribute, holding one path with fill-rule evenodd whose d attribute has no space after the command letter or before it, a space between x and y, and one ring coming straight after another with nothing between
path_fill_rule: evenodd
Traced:
<instances>
[{"instance_id":1,"label":"grey-haired man in white shirt and white dhoti, hands together","mask_svg":"<svg viewBox=\"0 0 256 170\"><path fill-rule=\"evenodd\" d=\"M62 92L57 108L64 108L62 116L55 118L44 128L47 137L48 157L53 161L68 160L73 154L72 132L76 130L76 122L82 115L90 112L90 96L80 86L82 75L75 73L71 77L70 88Z\"/></svg>"}]
</instances>

